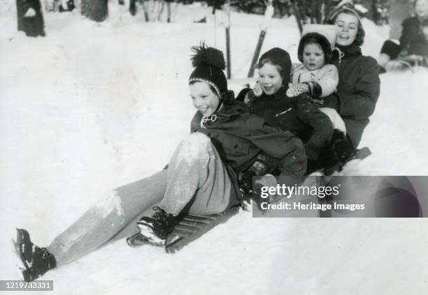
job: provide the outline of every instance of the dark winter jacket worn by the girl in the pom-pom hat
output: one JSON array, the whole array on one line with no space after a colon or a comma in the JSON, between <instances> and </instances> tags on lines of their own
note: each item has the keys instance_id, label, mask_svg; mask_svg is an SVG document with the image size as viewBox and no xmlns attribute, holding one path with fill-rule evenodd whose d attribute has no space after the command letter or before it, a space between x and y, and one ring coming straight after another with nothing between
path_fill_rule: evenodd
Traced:
<instances>
[{"instance_id":1,"label":"dark winter jacket worn by the girl in the pom-pom hat","mask_svg":"<svg viewBox=\"0 0 428 295\"><path fill-rule=\"evenodd\" d=\"M191 123L191 132L200 132L211 138L222 160L236 180L259 154L280 159L282 174L301 176L306 170L306 154L299 138L290 132L269 126L262 118L250 114L250 109L239 101L231 101L214 113L213 121L202 121L197 112ZM202 122L201 122L202 121Z\"/></svg>"}]
</instances>

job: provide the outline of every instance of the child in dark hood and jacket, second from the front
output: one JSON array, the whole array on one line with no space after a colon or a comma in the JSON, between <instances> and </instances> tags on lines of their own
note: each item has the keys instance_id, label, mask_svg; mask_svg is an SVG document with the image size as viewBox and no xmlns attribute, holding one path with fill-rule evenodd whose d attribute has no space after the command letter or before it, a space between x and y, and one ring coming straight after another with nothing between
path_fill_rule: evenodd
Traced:
<instances>
[{"instance_id":1,"label":"child in dark hood and jacket, second from the front","mask_svg":"<svg viewBox=\"0 0 428 295\"><path fill-rule=\"evenodd\" d=\"M257 88L243 89L238 95L254 114L265 119L271 126L289 130L305 145L308 160L316 160L320 149L326 146L333 133L333 126L327 115L303 93L296 97L286 94L290 82L290 55L278 47L262 54L257 63L259 79ZM255 93L259 92L259 96Z\"/></svg>"}]
</instances>

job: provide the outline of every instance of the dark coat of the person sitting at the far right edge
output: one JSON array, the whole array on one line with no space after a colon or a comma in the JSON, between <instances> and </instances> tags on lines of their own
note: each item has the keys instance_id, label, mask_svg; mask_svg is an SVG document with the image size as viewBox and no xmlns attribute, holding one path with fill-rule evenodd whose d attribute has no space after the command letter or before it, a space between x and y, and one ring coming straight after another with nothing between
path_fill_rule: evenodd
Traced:
<instances>
[{"instance_id":1,"label":"dark coat of the person sitting at the far right edge","mask_svg":"<svg viewBox=\"0 0 428 295\"><path fill-rule=\"evenodd\" d=\"M422 33L422 20L418 17L409 17L404 20L403 31L401 31L400 47L407 53L427 55L428 43Z\"/></svg>"}]
</instances>

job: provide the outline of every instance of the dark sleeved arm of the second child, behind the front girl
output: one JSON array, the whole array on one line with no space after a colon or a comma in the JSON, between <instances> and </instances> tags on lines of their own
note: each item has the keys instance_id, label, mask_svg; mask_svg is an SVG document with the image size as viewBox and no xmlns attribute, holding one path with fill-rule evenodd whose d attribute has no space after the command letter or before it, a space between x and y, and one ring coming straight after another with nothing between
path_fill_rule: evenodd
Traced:
<instances>
[{"instance_id":1,"label":"dark sleeved arm of the second child, behind the front girl","mask_svg":"<svg viewBox=\"0 0 428 295\"><path fill-rule=\"evenodd\" d=\"M333 124L329 117L315 107L305 95L297 97L294 103L299 119L313 128L312 135L305 143L308 158L315 160L318 152L326 146L333 135Z\"/></svg>"}]
</instances>

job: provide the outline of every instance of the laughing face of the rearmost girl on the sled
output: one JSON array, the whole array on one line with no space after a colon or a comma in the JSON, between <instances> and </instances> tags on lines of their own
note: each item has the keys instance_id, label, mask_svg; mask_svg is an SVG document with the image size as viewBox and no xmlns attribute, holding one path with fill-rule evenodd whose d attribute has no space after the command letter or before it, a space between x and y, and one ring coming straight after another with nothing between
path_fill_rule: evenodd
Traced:
<instances>
[{"instance_id":1,"label":"laughing face of the rearmost girl on the sled","mask_svg":"<svg viewBox=\"0 0 428 295\"><path fill-rule=\"evenodd\" d=\"M339 13L334 22L338 28L336 44L348 46L354 43L358 33L358 23L359 20L356 15Z\"/></svg>"}]
</instances>

